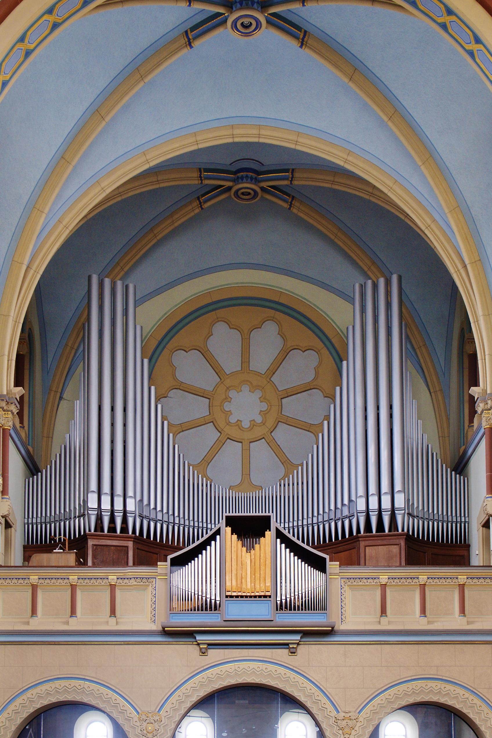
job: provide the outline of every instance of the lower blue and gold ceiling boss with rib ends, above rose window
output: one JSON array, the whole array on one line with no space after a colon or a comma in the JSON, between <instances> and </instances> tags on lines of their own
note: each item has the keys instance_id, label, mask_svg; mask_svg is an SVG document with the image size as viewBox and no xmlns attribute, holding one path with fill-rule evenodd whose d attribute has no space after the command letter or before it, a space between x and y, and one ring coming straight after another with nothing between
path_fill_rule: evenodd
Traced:
<instances>
[{"instance_id":1,"label":"lower blue and gold ceiling boss with rib ends, above rose window","mask_svg":"<svg viewBox=\"0 0 492 738\"><path fill-rule=\"evenodd\" d=\"M212 201L229 195L235 202L257 202L262 194L268 199L280 201L288 210L292 209L295 197L283 192L278 184L292 184L294 169L274 170L258 173L254 169L242 168L235 172L220 169L198 169L200 184L217 184L204 195L197 197L198 207L204 210Z\"/></svg>"}]
</instances>

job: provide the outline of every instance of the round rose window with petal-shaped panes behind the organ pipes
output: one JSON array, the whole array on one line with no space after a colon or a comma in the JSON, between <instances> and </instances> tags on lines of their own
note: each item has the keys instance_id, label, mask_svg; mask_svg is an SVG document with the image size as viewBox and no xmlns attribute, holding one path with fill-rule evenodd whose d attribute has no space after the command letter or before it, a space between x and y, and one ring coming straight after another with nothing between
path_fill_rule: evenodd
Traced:
<instances>
[{"instance_id":1,"label":"round rose window with petal-shaped panes behind the organ pipes","mask_svg":"<svg viewBox=\"0 0 492 738\"><path fill-rule=\"evenodd\" d=\"M176 443L201 475L249 492L308 458L338 381L308 328L262 308L227 308L195 320L164 353L153 381Z\"/></svg>"}]
</instances>

